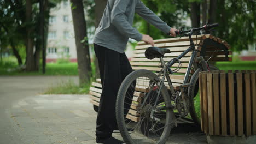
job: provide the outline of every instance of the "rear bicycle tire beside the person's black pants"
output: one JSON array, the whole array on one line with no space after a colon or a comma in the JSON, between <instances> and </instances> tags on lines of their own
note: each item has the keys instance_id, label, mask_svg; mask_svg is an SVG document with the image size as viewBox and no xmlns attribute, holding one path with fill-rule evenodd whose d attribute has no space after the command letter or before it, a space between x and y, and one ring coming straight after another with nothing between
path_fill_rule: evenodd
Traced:
<instances>
[{"instance_id":1,"label":"rear bicycle tire beside the person's black pants","mask_svg":"<svg viewBox=\"0 0 256 144\"><path fill-rule=\"evenodd\" d=\"M132 135L127 130L127 125L126 125L127 123L125 123L124 103L125 103L126 92L127 92L127 89L129 89L129 87L131 86L131 83L134 82L138 77L147 77L149 80L156 82L156 78L158 76L149 70L143 70L143 69L136 70L126 76L126 78L121 83L121 86L119 88L119 92L117 95L117 103L116 103L117 124L118 124L118 128L120 130L121 136L123 137L125 143L131 143L131 144L143 143L142 141L145 141L147 139L152 140L152 137L148 137L146 135L141 135L141 134L139 134L140 132L136 131L136 130L135 130L136 134ZM171 99L168 96L167 88L165 87L165 85L162 86L161 93L162 93L161 95L165 101L165 106L171 106ZM133 93L132 93L132 95L133 95ZM147 95L144 96L145 99L146 99L146 97L147 97ZM150 97L150 96L148 96L148 97ZM141 108L141 109L143 109L143 108ZM139 112L141 112L141 111L139 111ZM146 111L146 109L145 109L145 111ZM160 136L159 140L156 141L156 143L165 143L168 139L168 136L170 135L170 131L171 131L170 123L172 122L172 118L174 116L173 110L171 110L171 109L165 110L165 115L166 115L165 127L162 131L162 135ZM143 115L141 113L139 122L137 122L138 127L140 127L139 123L143 123L143 122L145 123L144 119L147 119L147 118L145 118L145 115ZM138 138L136 137L136 139L132 139L132 136L137 135L137 134L141 135L141 136ZM147 142L147 143L150 143L150 142Z\"/></svg>"}]
</instances>

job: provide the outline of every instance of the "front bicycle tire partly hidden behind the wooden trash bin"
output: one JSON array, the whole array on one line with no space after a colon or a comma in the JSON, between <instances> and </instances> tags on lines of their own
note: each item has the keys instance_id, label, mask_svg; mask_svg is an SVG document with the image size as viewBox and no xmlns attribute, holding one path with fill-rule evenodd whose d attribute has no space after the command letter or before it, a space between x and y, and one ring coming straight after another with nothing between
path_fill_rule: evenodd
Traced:
<instances>
[{"instance_id":1,"label":"front bicycle tire partly hidden behind the wooden trash bin","mask_svg":"<svg viewBox=\"0 0 256 144\"><path fill-rule=\"evenodd\" d=\"M210 70L219 70L217 67L214 65L209 65ZM191 118L193 119L193 122L196 123L197 125L201 126L201 117L197 115L196 109L195 109L195 101L194 98L196 97L198 90L199 90L199 73L202 71L202 68L199 68L195 71L195 73L192 75L190 83L193 83L189 88L188 88L188 96L190 98L190 109L189 113ZM197 95L197 97L200 97ZM200 101L199 101L200 102ZM200 105L200 103L197 105Z\"/></svg>"}]
</instances>

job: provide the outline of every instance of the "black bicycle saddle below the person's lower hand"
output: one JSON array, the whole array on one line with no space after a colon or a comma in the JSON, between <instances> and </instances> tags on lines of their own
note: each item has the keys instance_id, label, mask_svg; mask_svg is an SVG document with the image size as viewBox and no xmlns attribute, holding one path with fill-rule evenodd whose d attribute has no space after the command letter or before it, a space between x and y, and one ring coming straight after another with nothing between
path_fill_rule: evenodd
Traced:
<instances>
[{"instance_id":1,"label":"black bicycle saddle below the person's lower hand","mask_svg":"<svg viewBox=\"0 0 256 144\"><path fill-rule=\"evenodd\" d=\"M148 59L164 57L165 53L171 53L169 49L159 47L148 47L145 51L145 56Z\"/></svg>"}]
</instances>

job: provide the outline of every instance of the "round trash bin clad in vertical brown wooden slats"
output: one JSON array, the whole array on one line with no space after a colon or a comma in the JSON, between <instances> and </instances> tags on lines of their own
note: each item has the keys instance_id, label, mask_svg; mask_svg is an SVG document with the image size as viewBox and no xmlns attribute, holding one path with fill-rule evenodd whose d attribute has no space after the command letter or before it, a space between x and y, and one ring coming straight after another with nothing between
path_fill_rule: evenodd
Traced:
<instances>
[{"instance_id":1,"label":"round trash bin clad in vertical brown wooden slats","mask_svg":"<svg viewBox=\"0 0 256 144\"><path fill-rule=\"evenodd\" d=\"M208 136L247 139L256 135L255 83L256 70L204 71L199 74L201 127L207 140ZM216 140L219 141L219 137Z\"/></svg>"}]
</instances>

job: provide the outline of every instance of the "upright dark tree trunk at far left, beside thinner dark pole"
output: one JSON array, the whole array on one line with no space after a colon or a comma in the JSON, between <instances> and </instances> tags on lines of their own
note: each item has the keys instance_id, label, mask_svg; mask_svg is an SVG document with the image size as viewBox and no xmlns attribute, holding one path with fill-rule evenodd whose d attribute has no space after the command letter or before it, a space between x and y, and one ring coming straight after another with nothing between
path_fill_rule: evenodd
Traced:
<instances>
[{"instance_id":1,"label":"upright dark tree trunk at far left, beside thinner dark pole","mask_svg":"<svg viewBox=\"0 0 256 144\"><path fill-rule=\"evenodd\" d=\"M31 0L26 1L26 22L30 23L32 20L32 3ZM26 71L35 71L34 63L34 43L32 38L32 27L27 24L26 27Z\"/></svg>"}]
</instances>

